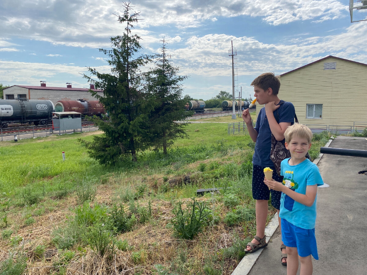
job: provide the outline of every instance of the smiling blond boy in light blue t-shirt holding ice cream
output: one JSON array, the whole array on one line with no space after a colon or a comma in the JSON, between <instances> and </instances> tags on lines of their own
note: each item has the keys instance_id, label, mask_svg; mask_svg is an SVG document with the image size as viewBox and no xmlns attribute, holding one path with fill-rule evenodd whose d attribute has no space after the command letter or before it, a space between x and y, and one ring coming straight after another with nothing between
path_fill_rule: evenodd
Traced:
<instances>
[{"instance_id":1,"label":"smiling blond boy in light blue t-shirt holding ice cream","mask_svg":"<svg viewBox=\"0 0 367 275\"><path fill-rule=\"evenodd\" d=\"M298 271L312 274L311 255L318 260L315 237L317 186L323 184L319 168L305 157L311 147L312 132L302 124L294 124L284 132L291 157L280 165L283 183L264 180L273 190L281 191L281 239L287 247L287 275Z\"/></svg>"}]
</instances>

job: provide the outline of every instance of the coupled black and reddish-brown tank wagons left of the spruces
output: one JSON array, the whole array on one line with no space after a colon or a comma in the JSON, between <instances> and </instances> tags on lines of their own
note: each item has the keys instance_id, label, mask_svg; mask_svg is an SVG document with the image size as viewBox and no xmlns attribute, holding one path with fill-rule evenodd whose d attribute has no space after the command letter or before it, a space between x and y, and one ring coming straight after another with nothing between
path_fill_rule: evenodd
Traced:
<instances>
[{"instance_id":1,"label":"coupled black and reddish-brown tank wagons left of the spruces","mask_svg":"<svg viewBox=\"0 0 367 275\"><path fill-rule=\"evenodd\" d=\"M8 123L51 124L52 112L69 111L89 116L105 113L97 100L59 100L54 105L50 100L0 99L0 128L7 128Z\"/></svg>"}]
</instances>

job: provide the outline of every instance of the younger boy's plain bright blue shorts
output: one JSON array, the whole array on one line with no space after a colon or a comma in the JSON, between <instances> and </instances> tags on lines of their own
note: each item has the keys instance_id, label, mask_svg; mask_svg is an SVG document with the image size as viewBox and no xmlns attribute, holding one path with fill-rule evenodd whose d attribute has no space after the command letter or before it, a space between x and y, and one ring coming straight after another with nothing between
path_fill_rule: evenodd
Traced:
<instances>
[{"instance_id":1,"label":"younger boy's plain bright blue shorts","mask_svg":"<svg viewBox=\"0 0 367 275\"><path fill-rule=\"evenodd\" d=\"M297 247L298 255L307 257L312 255L319 260L317 253L315 228L304 229L281 219L281 240L286 246Z\"/></svg>"}]
</instances>

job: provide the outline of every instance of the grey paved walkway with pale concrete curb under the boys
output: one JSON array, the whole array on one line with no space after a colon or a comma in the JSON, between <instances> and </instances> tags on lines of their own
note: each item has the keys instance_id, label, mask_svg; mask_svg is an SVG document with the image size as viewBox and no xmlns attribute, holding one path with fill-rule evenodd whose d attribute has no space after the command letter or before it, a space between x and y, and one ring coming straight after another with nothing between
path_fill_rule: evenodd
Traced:
<instances>
[{"instance_id":1,"label":"grey paved walkway with pale concrete curb under the boys","mask_svg":"<svg viewBox=\"0 0 367 275\"><path fill-rule=\"evenodd\" d=\"M367 150L367 140L337 136L329 147ZM358 173L367 170L367 158L324 154L317 166L330 187L317 188L316 239L320 260L313 259L313 274L367 274L367 176ZM269 245L258 251L258 258L245 256L233 275L287 274L280 263L279 229L270 234ZM249 256L257 260L246 260Z\"/></svg>"}]
</instances>

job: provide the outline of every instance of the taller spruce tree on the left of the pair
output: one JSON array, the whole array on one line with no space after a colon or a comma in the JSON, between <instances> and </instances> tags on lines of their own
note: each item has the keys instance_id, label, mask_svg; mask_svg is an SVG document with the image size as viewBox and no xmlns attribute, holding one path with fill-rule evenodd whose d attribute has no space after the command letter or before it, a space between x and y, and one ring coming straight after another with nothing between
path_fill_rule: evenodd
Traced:
<instances>
[{"instance_id":1,"label":"taller spruce tree on the left of the pair","mask_svg":"<svg viewBox=\"0 0 367 275\"><path fill-rule=\"evenodd\" d=\"M94 80L84 74L89 82L97 89L103 90L103 96L89 90L104 106L110 120L104 122L94 118L93 121L103 131L102 136L94 136L91 142L79 140L88 150L88 154L101 164L115 164L121 158L131 154L131 160L137 161L136 153L143 150L144 136L148 123L148 114L153 109L153 102L149 102L141 89L141 66L147 64L151 56L137 53L141 49L139 36L131 35L132 23L138 22L138 13L132 12L130 2L123 3L124 15L119 16L119 23L125 23L126 28L122 36L110 38L112 49L99 49L108 55L108 63L112 67L110 74L98 73L88 67Z\"/></svg>"}]
</instances>

